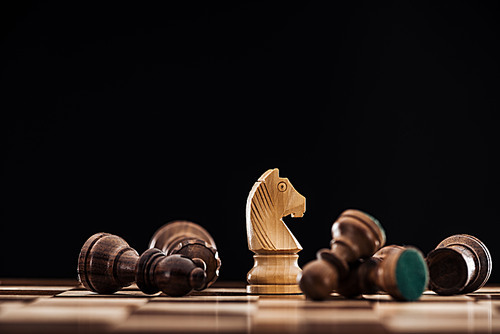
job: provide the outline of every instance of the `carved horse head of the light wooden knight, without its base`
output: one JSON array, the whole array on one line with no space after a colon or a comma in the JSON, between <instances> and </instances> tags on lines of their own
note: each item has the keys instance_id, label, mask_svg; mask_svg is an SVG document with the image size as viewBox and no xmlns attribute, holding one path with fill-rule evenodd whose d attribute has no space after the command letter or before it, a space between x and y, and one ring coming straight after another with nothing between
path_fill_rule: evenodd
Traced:
<instances>
[{"instance_id":1,"label":"carved horse head of the light wooden knight, without its base","mask_svg":"<svg viewBox=\"0 0 500 334\"><path fill-rule=\"evenodd\" d=\"M300 251L302 247L282 217L302 217L305 210L305 197L295 190L287 178L279 177L277 168L268 170L248 195L248 248L258 254Z\"/></svg>"}]
</instances>

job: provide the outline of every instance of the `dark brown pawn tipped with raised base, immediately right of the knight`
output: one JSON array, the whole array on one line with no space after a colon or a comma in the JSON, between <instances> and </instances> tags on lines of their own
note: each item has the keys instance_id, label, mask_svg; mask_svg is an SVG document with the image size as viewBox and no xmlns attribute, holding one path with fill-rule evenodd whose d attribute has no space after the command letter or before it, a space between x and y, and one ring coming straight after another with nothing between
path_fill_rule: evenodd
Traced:
<instances>
[{"instance_id":1,"label":"dark brown pawn tipped with raised base, immediately right of the knight","mask_svg":"<svg viewBox=\"0 0 500 334\"><path fill-rule=\"evenodd\" d=\"M331 248L319 250L317 259L309 262L298 277L308 298L326 299L347 275L349 263L372 256L385 244L380 223L364 212L351 209L333 223L332 237Z\"/></svg>"}]
</instances>

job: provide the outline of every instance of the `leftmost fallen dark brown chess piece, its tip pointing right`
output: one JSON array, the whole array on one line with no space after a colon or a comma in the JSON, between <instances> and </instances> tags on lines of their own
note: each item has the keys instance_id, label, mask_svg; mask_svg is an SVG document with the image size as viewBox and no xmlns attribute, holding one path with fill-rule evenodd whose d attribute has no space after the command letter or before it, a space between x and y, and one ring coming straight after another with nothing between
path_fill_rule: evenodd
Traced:
<instances>
[{"instance_id":1,"label":"leftmost fallen dark brown chess piece, its tip pointing right","mask_svg":"<svg viewBox=\"0 0 500 334\"><path fill-rule=\"evenodd\" d=\"M80 251L78 278L85 288L97 293L114 293L136 281L144 293L161 290L177 297L205 284L205 264L180 254L166 256L154 248L139 257L122 238L97 233Z\"/></svg>"}]
</instances>

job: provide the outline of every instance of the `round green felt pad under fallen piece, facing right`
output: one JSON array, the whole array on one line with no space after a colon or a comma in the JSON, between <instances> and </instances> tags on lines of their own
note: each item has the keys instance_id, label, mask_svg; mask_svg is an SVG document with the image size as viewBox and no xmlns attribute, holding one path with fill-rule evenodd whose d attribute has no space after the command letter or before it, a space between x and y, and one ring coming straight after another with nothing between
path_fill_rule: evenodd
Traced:
<instances>
[{"instance_id":1,"label":"round green felt pad under fallen piece, facing right","mask_svg":"<svg viewBox=\"0 0 500 334\"><path fill-rule=\"evenodd\" d=\"M405 300L417 300L429 280L425 259L416 249L406 249L396 264L396 282Z\"/></svg>"}]
</instances>

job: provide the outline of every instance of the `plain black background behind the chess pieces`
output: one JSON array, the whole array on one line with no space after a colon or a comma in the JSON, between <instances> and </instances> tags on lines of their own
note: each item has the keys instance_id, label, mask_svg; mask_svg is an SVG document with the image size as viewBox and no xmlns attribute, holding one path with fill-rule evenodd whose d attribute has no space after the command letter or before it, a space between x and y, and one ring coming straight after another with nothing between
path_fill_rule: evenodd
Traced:
<instances>
[{"instance_id":1,"label":"plain black background behind the chess pieces","mask_svg":"<svg viewBox=\"0 0 500 334\"><path fill-rule=\"evenodd\" d=\"M498 4L1 6L0 277L75 277L93 233L142 252L187 219L244 280L275 167L307 199L301 266L346 208L389 244L469 233L500 258Z\"/></svg>"}]
</instances>

